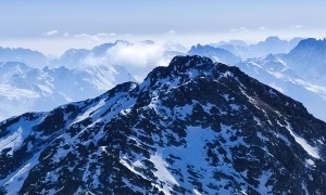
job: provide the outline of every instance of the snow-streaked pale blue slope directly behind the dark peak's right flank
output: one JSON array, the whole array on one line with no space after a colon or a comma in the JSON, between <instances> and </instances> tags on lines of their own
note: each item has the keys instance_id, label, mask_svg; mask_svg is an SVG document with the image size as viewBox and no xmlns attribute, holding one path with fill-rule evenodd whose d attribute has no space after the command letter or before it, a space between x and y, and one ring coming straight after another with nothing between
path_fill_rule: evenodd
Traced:
<instances>
[{"instance_id":1,"label":"snow-streaked pale blue slope directly behind the dark peak's right flank","mask_svg":"<svg viewBox=\"0 0 326 195\"><path fill-rule=\"evenodd\" d=\"M266 83L286 95L302 102L315 117L326 121L326 88L300 78L281 60L269 54L264 58L249 58L236 64L249 76Z\"/></svg>"}]
</instances>

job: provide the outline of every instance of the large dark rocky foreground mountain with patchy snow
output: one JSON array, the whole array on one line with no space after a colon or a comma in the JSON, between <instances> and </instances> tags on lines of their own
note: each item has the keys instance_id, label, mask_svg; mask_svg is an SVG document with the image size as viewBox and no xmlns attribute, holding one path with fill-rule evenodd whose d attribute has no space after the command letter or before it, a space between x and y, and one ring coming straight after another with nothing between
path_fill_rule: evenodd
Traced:
<instances>
[{"instance_id":1,"label":"large dark rocky foreground mountain with patchy snow","mask_svg":"<svg viewBox=\"0 0 326 195\"><path fill-rule=\"evenodd\" d=\"M8 119L0 136L2 193L326 192L326 123L206 57L177 56L140 84Z\"/></svg>"}]
</instances>

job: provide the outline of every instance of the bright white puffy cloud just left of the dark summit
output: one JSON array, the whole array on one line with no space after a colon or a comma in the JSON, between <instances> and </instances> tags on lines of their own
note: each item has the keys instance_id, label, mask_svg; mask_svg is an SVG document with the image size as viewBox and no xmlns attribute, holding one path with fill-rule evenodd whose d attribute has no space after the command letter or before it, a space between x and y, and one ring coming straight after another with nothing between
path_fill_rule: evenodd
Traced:
<instances>
[{"instance_id":1,"label":"bright white puffy cloud just left of the dark summit","mask_svg":"<svg viewBox=\"0 0 326 195\"><path fill-rule=\"evenodd\" d=\"M101 64L122 66L140 81L152 68L168 65L174 56L168 51L175 51L177 48L173 43L166 42L129 43L120 41L110 48L104 56L88 55L83 64L86 66Z\"/></svg>"}]
</instances>

